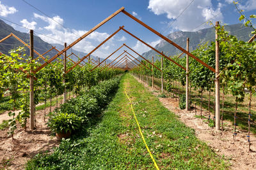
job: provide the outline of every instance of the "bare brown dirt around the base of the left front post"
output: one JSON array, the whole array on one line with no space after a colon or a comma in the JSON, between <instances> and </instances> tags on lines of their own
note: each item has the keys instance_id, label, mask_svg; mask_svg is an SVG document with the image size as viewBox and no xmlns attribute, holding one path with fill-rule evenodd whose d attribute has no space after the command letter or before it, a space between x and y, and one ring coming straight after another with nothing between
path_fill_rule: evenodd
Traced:
<instances>
[{"instance_id":1,"label":"bare brown dirt around the base of the left front post","mask_svg":"<svg viewBox=\"0 0 256 170\"><path fill-rule=\"evenodd\" d=\"M49 113L50 108L47 108ZM54 106L52 107L54 110ZM7 120L9 117L7 118ZM44 122L44 110L36 111L36 129L27 131L19 125L15 130L14 140L7 137L8 129L0 131L0 169L24 169L26 162L37 153L49 150L59 145L55 136Z\"/></svg>"}]
</instances>

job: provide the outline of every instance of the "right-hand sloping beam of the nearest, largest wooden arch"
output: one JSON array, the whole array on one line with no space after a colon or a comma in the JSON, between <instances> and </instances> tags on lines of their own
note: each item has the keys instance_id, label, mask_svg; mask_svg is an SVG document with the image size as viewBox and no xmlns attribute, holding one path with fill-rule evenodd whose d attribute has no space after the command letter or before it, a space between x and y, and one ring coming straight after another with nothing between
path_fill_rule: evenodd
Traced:
<instances>
[{"instance_id":1,"label":"right-hand sloping beam of the nearest, largest wooden arch","mask_svg":"<svg viewBox=\"0 0 256 170\"><path fill-rule=\"evenodd\" d=\"M168 43L170 43L171 45L175 46L176 48L178 48L180 51L186 53L189 55L189 57L192 57L193 59L195 59L197 62L200 62L203 66L207 67L208 69L210 69L211 71L213 71L215 73L215 69L212 68L211 66L209 66L208 64L206 64L205 62L203 62L202 60L198 59L197 57L195 57L195 55L193 55L192 53L189 53L187 50L185 50L184 48L182 48L181 46L177 45L176 43L174 43L173 41L171 41L170 39L166 38L166 36L163 36L162 34L160 34L159 32L157 32L156 30L152 29L152 27L148 26L147 24L145 24L144 22L142 22L141 20L139 20L138 18L134 17L133 15L131 15L130 13L128 13L125 10L122 10L122 12L127 15L128 17L132 18L133 20L135 20L136 22L138 22L139 24L143 25L143 27L146 27L149 31L154 32L154 34L156 34L157 36L163 38L165 41L167 41ZM164 56L164 55L163 55ZM168 58L168 57L167 57ZM169 58L168 58L169 59ZM186 69L185 69L186 70Z\"/></svg>"}]
</instances>

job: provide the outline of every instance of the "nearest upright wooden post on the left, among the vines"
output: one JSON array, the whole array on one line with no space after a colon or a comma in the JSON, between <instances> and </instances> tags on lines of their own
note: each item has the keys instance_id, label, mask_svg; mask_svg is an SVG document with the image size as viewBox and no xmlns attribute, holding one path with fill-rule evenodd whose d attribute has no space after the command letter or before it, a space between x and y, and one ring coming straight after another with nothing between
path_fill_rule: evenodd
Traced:
<instances>
[{"instance_id":1,"label":"nearest upright wooden post on the left, among the vines","mask_svg":"<svg viewBox=\"0 0 256 170\"><path fill-rule=\"evenodd\" d=\"M34 59L34 32L30 30L30 63L33 62ZM30 67L30 74L33 73L33 67ZM30 105L30 129L35 129L35 100L34 100L34 78L33 76L29 76L29 105Z\"/></svg>"}]
</instances>

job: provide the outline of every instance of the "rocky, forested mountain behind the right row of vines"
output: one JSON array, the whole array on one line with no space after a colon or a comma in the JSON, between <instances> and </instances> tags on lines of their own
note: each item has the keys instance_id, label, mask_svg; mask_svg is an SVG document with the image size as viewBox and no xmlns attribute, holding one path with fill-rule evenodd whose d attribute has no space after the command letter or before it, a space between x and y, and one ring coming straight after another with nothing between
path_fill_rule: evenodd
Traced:
<instances>
[{"instance_id":1,"label":"rocky, forested mountain behind the right row of vines","mask_svg":"<svg viewBox=\"0 0 256 170\"><path fill-rule=\"evenodd\" d=\"M230 32L230 34L237 36L237 38L243 41L248 41L250 39L249 35L252 31L250 27L244 27L241 24L226 25L225 29ZM196 46L200 43L215 41L215 29L211 27L196 32L177 31L168 34L167 38L171 39L174 43L177 43L177 45L184 49L186 49L186 40L189 38L189 50L191 51L195 50ZM170 45L170 43L167 43L163 39L161 39L160 43L158 43L155 48L160 52L163 51L166 55L177 55L181 53L175 46ZM148 52L143 53L142 56L150 60L152 59L152 56L154 56L154 59L159 59L156 54L158 55L154 50L149 50Z\"/></svg>"}]
</instances>

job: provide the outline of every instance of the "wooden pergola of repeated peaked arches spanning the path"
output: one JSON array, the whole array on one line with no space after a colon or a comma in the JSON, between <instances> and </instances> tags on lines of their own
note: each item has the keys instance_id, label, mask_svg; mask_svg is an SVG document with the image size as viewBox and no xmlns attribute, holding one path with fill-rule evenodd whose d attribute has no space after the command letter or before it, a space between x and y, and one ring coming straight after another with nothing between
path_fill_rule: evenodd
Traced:
<instances>
[{"instance_id":1,"label":"wooden pergola of repeated peaked arches spanning the path","mask_svg":"<svg viewBox=\"0 0 256 170\"><path fill-rule=\"evenodd\" d=\"M216 47L216 69L212 68L211 66L209 66L208 64L206 64L205 62L203 62L202 60L198 59L197 57L195 57L195 55L193 55L192 53L189 52L189 50L185 50L184 48L182 48L181 46L177 45L176 43L174 43L172 40L168 39L166 36L163 36L162 34L160 34L159 32L157 32L156 30L152 29L152 27L148 26L147 24L141 22L141 20L139 20L138 18L134 17L133 15L131 15L130 13L128 13L127 11L125 11L125 8L122 7L120 8L119 10L115 11L115 13L111 14L109 17L107 17L106 19L104 19L102 22L100 22L99 24L97 24L95 27L93 27L92 29L90 29L90 31L86 32L85 34L83 34L83 36L81 36L80 38L76 39L76 41L74 41L73 43L71 43L70 45L66 45L65 48L63 50L61 50L60 52L58 52L56 55L54 55L54 57L52 57L51 59L49 60L46 60L44 62L44 64L42 64L41 66L37 67L35 70L32 70L33 73L37 73L38 71L40 71L40 69L44 68L45 66L47 66L47 64L51 63L54 59L56 59L57 57L59 57L60 55L62 55L63 53L65 53L65 60L67 59L67 50L72 48L72 46L76 45L77 43L79 43L79 41L81 41L82 39L86 38L86 36L88 36L89 34L91 34L93 31L96 31L100 26L104 25L106 22L108 22L109 20L111 20L111 18L115 17L116 15L118 15L119 13L124 13L125 15L127 15L129 18L132 18L132 20L134 20L135 22L138 22L138 24L140 25L143 25L143 27L147 28L149 31L153 32L154 34L156 34L157 36L159 36L160 38L164 39L165 41L167 41L168 43L170 43L171 45L175 46L175 48L178 48L182 53L186 53L186 55L188 57L191 57L193 59L195 59L197 62L200 62L200 64L202 64L203 66L207 67L208 69L210 69L211 71L213 71L214 73L216 73L216 130L220 130L220 83L219 83L219 78L217 77L217 75L219 74L219 65L218 65L218 59L220 54L218 52L218 49ZM187 76L188 76L188 63L186 64L186 68L181 66L180 64L178 64L177 62L175 62L174 60L172 60L170 57L164 55L163 52L159 52L158 50L156 50L156 48L148 45L147 43L145 43L145 41L143 41L142 39L138 38L137 36L135 36L134 34L132 34L131 32L127 31L126 29L124 29L124 26L122 27L119 27L117 31L113 32L113 34L111 34L111 36L109 36L108 38L106 38L104 41L102 41L102 43L100 43L96 48L94 48L92 50L92 52L88 53L88 55L85 55L84 57L82 57L79 61L76 62L76 64L74 64L74 66L72 66L70 69L68 70L65 70L65 73L67 74L68 71L71 71L72 69L74 69L74 67L76 67L77 65L79 65L84 59L86 59L88 56L90 56L93 52L95 52L95 50L97 50L101 45L103 45L104 43L106 43L106 41L108 41L110 38L112 38L113 36L115 36L115 34L117 34L119 31L124 31L126 32L127 34L129 34L130 36L132 36L133 38L137 39L138 41L141 41L141 43L143 43L144 45L148 46L149 48L151 48L152 50L154 50L155 52L159 53L160 55L162 55L164 58L170 60L171 62L173 62L174 64L176 64L177 66L179 66L180 68L186 70L187 72ZM33 31L32 31L33 32ZM33 34L31 34L33 36ZM12 34L9 35L10 36L13 36ZM8 38L9 38L8 37ZM7 38L5 38L7 39ZM0 40L0 43L4 41L4 39ZM31 41L31 57L33 56L33 52L35 52L33 50L33 39ZM218 43L216 41L216 43ZM129 48L127 45L123 45L123 46L126 46L127 48ZM122 47L120 47L122 48ZM52 50L52 49L51 49ZM119 49L118 49L119 50ZM129 48L129 50L131 50L132 52L134 52L134 50L132 50L131 48ZM117 51L117 50L116 50ZM36 53L36 52L35 52ZM115 52L113 52L115 53ZM126 52L128 55L129 53ZM135 52L136 53L136 52ZM138 53L136 53L138 54ZM139 54L138 54L139 55ZM40 55L39 55L40 56ZM139 55L140 57L142 57L141 55ZM125 63L126 63L126 66L140 66L140 64L137 64L136 62L129 62L129 65L128 65L128 61L129 59L131 60L130 57L128 57L127 55L124 56L125 57ZM132 57L132 56L131 56ZM135 58L135 57L134 57ZM105 59L106 60L106 59ZM146 59L145 59L146 60ZM132 60L133 61L133 60ZM149 62L148 60L146 60L147 62ZM104 60L102 61L104 62ZM100 64L102 64L102 62L99 62L93 69L95 69L96 67L99 67ZM112 63L112 62L111 62ZM132 65L132 64L134 65ZM150 62L149 62L150 63ZM66 64L66 62L64 62L64 64ZM154 66L153 63L150 63L153 67L156 67ZM115 64L114 64L115 65ZM109 66L109 64L108 64ZM105 66L102 68L105 69L106 67L108 66ZM121 65L122 66L122 65ZM137 66L137 67L138 67ZM64 66L66 67L66 66ZM113 66L112 66L113 67ZM92 69L92 70L93 70ZM149 68L148 68L149 69ZM159 69L159 68L157 68ZM161 69L159 69L161 70ZM31 81L33 81L33 78L31 78ZM186 83L188 84L188 81L186 81ZM186 90L188 90L186 88Z\"/></svg>"}]
</instances>

